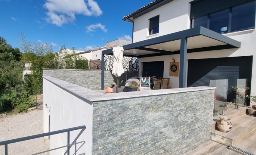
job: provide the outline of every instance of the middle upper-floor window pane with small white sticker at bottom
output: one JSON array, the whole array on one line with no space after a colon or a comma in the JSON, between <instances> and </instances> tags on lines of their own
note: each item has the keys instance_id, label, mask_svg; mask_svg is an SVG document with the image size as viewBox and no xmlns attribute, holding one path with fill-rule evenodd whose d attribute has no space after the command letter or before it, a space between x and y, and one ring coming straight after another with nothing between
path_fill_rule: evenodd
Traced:
<instances>
[{"instance_id":1,"label":"middle upper-floor window pane with small white sticker at bottom","mask_svg":"<svg viewBox=\"0 0 256 155\"><path fill-rule=\"evenodd\" d=\"M229 9L210 14L210 30L218 33L228 32Z\"/></svg>"}]
</instances>

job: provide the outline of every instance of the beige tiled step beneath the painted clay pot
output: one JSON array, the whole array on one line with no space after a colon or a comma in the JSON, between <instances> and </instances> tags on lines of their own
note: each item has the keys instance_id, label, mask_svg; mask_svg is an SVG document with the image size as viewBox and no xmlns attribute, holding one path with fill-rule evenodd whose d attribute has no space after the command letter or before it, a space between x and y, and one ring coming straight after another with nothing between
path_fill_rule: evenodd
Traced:
<instances>
[{"instance_id":1,"label":"beige tiled step beneath the painted clay pot","mask_svg":"<svg viewBox=\"0 0 256 155\"><path fill-rule=\"evenodd\" d=\"M256 117L250 115L242 115L241 111L231 118L233 129L228 133L223 133L215 129L215 124L211 128L211 140L225 146L233 146L235 143L244 138L247 134L256 128Z\"/></svg>"}]
</instances>

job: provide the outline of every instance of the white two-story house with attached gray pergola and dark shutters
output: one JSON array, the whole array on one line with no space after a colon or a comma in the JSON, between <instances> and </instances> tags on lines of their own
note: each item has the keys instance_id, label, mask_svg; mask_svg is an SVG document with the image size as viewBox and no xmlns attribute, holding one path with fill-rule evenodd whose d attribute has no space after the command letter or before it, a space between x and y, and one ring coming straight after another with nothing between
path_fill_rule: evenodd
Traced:
<instances>
[{"instance_id":1,"label":"white two-story house with attached gray pergola and dark shutters","mask_svg":"<svg viewBox=\"0 0 256 155\"><path fill-rule=\"evenodd\" d=\"M172 88L227 79L231 102L231 86L247 79L248 94L256 96L255 14L255 0L154 0L123 17L133 25L124 55L139 58L141 76L170 78ZM170 76L174 61L178 76Z\"/></svg>"}]
</instances>

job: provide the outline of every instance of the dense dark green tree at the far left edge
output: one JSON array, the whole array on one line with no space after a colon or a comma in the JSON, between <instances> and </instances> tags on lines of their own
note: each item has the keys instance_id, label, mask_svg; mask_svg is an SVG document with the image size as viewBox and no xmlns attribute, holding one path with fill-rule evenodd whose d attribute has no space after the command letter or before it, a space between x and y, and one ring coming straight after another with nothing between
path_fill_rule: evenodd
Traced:
<instances>
[{"instance_id":1,"label":"dense dark green tree at the far left edge","mask_svg":"<svg viewBox=\"0 0 256 155\"><path fill-rule=\"evenodd\" d=\"M21 53L0 37L0 92L15 87L22 80Z\"/></svg>"}]
</instances>

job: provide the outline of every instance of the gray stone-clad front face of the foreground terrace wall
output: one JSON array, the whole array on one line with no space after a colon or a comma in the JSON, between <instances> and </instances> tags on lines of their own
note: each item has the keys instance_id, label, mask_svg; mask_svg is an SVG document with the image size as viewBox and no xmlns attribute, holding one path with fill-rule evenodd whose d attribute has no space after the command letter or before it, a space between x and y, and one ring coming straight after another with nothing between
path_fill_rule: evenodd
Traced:
<instances>
[{"instance_id":1,"label":"gray stone-clad front face of the foreground terrace wall","mask_svg":"<svg viewBox=\"0 0 256 155\"><path fill-rule=\"evenodd\" d=\"M93 155L182 155L210 140L214 90L93 102Z\"/></svg>"}]
</instances>

